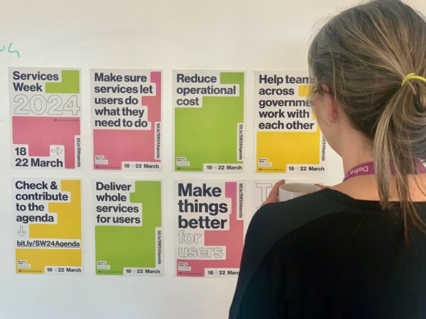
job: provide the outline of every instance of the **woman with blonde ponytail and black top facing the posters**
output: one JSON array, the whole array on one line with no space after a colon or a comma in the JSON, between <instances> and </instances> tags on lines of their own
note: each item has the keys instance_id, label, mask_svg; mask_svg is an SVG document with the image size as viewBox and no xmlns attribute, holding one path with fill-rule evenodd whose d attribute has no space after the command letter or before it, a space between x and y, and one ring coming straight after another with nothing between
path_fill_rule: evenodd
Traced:
<instances>
[{"instance_id":1,"label":"woman with blonde ponytail and black top facing the posters","mask_svg":"<svg viewBox=\"0 0 426 319\"><path fill-rule=\"evenodd\" d=\"M399 1L350 8L315 36L309 67L346 176L288 202L273 187L229 318L426 318L425 19Z\"/></svg>"}]
</instances>

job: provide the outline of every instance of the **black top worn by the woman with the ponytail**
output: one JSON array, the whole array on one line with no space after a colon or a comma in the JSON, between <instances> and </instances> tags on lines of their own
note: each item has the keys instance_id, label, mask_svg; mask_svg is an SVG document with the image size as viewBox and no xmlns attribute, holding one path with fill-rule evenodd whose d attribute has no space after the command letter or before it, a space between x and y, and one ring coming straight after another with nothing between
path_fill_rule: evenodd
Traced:
<instances>
[{"instance_id":1,"label":"black top worn by the woman with the ponytail","mask_svg":"<svg viewBox=\"0 0 426 319\"><path fill-rule=\"evenodd\" d=\"M401 213L332 189L262 206L229 311L258 318L425 319L425 233L408 245Z\"/></svg>"}]
</instances>

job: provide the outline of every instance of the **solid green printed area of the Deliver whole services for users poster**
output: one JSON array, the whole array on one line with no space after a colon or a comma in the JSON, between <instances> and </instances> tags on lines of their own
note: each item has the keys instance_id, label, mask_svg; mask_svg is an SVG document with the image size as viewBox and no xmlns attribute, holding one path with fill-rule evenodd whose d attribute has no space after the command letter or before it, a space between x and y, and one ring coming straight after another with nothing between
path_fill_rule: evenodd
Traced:
<instances>
[{"instance_id":1,"label":"solid green printed area of the Deliver whole services for users poster","mask_svg":"<svg viewBox=\"0 0 426 319\"><path fill-rule=\"evenodd\" d=\"M155 268L155 228L161 227L161 182L137 181L130 202L142 204L142 226L96 226L96 261L109 270L97 274L123 274L123 268ZM128 213L131 216L132 213Z\"/></svg>"}]
</instances>

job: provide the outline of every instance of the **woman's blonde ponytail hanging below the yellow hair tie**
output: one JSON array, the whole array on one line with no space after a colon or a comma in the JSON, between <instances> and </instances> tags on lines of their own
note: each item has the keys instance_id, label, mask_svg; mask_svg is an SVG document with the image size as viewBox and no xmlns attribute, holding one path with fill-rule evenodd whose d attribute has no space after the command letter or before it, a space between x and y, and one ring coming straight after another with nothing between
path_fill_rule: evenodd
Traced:
<instances>
[{"instance_id":1,"label":"woman's blonde ponytail hanging below the yellow hair tie","mask_svg":"<svg viewBox=\"0 0 426 319\"><path fill-rule=\"evenodd\" d=\"M415 100L418 100L419 94L413 93L412 88L403 87L391 97L379 117L373 141L374 172L381 208L395 209L390 202L392 191L390 178L394 176L396 194L392 195L399 198L399 208L403 213L404 237L407 242L410 241L408 231L410 224L426 232L426 223L418 215L412 202L408 182L408 174L416 174L418 165L421 165L421 161L417 158L426 157L426 154L416 154L418 150L426 152L426 105L423 104L416 109L418 104ZM423 147L416 147L422 144Z\"/></svg>"}]
</instances>

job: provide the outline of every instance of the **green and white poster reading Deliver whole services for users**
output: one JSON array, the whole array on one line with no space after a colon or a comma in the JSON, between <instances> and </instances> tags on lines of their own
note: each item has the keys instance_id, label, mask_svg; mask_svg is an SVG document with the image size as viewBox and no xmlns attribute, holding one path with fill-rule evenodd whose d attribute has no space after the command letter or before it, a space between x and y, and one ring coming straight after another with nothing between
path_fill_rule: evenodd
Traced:
<instances>
[{"instance_id":1,"label":"green and white poster reading Deliver whole services for users","mask_svg":"<svg viewBox=\"0 0 426 319\"><path fill-rule=\"evenodd\" d=\"M162 276L161 182L93 181L96 274Z\"/></svg>"}]
</instances>

